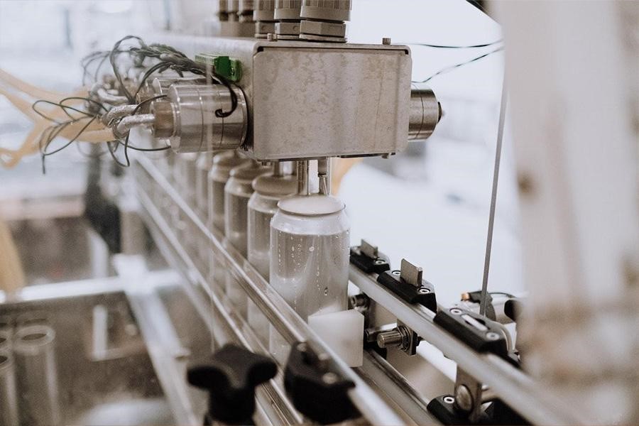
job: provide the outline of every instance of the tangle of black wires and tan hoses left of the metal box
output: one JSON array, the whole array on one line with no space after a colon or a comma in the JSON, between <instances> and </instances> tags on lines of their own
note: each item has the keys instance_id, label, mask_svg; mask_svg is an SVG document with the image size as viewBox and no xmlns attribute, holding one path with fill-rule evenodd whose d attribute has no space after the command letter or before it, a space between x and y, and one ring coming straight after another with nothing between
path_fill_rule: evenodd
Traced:
<instances>
[{"instance_id":1,"label":"tangle of black wires and tan hoses left of the metal box","mask_svg":"<svg viewBox=\"0 0 639 426\"><path fill-rule=\"evenodd\" d=\"M125 43L130 45L125 46ZM112 76L102 76L102 68L109 61ZM136 99L147 80L154 75L170 70L179 77L185 74L207 77L212 83L223 84L231 94L231 107L228 111L218 109L214 114L226 117L235 111L237 97L231 83L214 69L187 58L179 50L163 44L146 44L135 35L127 35L118 40L111 50L91 53L81 61L84 87L72 94L62 94L34 87L31 84L0 70L0 94L33 121L33 129L17 149L0 147L0 164L12 168L26 155L40 152L45 173L45 158L70 146L72 143L106 143L109 153L122 166L130 165L128 149L138 151L162 151L168 146L143 148L131 146L129 135L116 135L111 129L118 120L104 122L103 117L115 106L129 104L129 114L135 115L141 107L160 97ZM90 70L94 67L93 70ZM142 70L141 76L132 80L125 75L131 70ZM126 70L126 71L125 71ZM123 72L125 71L125 72ZM87 81L89 79L90 81ZM5 86L5 87L3 87ZM35 101L33 100L35 99ZM125 116L126 116L125 115ZM58 138L66 141L52 148ZM119 146L124 146L125 162L116 158ZM101 155L99 153L98 155Z\"/></svg>"}]
</instances>

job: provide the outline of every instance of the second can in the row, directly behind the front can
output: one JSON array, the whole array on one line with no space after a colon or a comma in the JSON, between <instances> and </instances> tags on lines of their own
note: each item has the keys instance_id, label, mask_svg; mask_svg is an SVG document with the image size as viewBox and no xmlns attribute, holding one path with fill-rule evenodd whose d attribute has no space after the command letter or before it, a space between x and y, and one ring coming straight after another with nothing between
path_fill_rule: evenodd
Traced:
<instances>
[{"instance_id":1,"label":"second can in the row, directly behind the front can","mask_svg":"<svg viewBox=\"0 0 639 426\"><path fill-rule=\"evenodd\" d=\"M262 175L253 180L253 195L249 200L247 258L266 280L271 266L271 219L278 211L278 202L295 194L295 176ZM249 298L247 316L249 325L268 345L268 320Z\"/></svg>"}]
</instances>

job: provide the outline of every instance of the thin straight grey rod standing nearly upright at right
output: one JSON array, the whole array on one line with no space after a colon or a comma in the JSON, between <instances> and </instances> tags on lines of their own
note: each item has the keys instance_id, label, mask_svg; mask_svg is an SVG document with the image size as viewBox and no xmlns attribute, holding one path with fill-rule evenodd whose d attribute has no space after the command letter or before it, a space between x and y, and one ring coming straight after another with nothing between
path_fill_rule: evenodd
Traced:
<instances>
[{"instance_id":1,"label":"thin straight grey rod standing nearly upright at right","mask_svg":"<svg viewBox=\"0 0 639 426\"><path fill-rule=\"evenodd\" d=\"M497 187L499 183L499 164L501 163L501 145L503 142L503 126L506 121L506 104L508 90L506 76L501 84L501 107L499 109L499 127L497 130L497 146L495 149L495 168L493 170L493 189L491 192L491 211L488 214L488 235L486 236L486 256L484 257L484 279L481 281L481 298L479 315L486 313L486 294L488 293L488 272L491 269L491 252L493 250L493 226L495 224L495 207L497 204Z\"/></svg>"}]
</instances>

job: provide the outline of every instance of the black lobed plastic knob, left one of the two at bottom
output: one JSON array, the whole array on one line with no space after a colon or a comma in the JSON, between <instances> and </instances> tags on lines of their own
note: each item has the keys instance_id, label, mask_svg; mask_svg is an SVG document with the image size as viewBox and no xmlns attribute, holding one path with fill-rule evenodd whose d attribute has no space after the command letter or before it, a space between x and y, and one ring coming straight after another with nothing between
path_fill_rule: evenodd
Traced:
<instances>
[{"instance_id":1,"label":"black lobed plastic knob, left one of the two at bottom","mask_svg":"<svg viewBox=\"0 0 639 426\"><path fill-rule=\"evenodd\" d=\"M210 419L229 425L249 425L255 411L256 386L275 377L277 370L275 362L267 356L226 344L210 359L192 364L187 380L209 392Z\"/></svg>"}]
</instances>

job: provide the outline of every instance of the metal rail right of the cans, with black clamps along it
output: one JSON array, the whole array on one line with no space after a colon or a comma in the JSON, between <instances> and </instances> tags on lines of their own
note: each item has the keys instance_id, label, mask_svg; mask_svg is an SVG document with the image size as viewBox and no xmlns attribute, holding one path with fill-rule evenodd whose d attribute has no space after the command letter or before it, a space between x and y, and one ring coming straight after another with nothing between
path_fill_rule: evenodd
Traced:
<instances>
[{"instance_id":1,"label":"metal rail right of the cans, with black clamps along it","mask_svg":"<svg viewBox=\"0 0 639 426\"><path fill-rule=\"evenodd\" d=\"M420 305L408 305L386 288L378 285L376 274L365 274L351 266L350 280L368 297L378 302L398 320L415 330L449 359L478 381L490 386L513 410L533 423L553 425L580 424L581 419L562 399L541 388L522 371L492 354L480 354L433 322L435 314Z\"/></svg>"}]
</instances>

